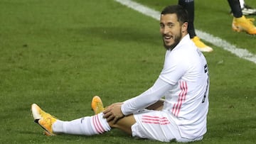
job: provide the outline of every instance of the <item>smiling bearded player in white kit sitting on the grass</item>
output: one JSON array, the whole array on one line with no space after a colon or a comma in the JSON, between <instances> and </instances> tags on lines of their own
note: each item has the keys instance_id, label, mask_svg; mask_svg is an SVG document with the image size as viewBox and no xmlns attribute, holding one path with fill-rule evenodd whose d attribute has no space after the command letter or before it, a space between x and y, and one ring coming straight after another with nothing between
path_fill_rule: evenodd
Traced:
<instances>
[{"instance_id":1,"label":"smiling bearded player in white kit sitting on the grass","mask_svg":"<svg viewBox=\"0 0 256 144\"><path fill-rule=\"evenodd\" d=\"M134 137L150 140L202 140L208 113L208 67L206 58L189 38L187 28L188 13L182 6L164 8L160 17L166 48L164 68L153 86L139 96L73 121L61 121L32 104L34 121L47 135L98 135L119 128ZM145 109L162 97L165 99L161 109Z\"/></svg>"}]
</instances>

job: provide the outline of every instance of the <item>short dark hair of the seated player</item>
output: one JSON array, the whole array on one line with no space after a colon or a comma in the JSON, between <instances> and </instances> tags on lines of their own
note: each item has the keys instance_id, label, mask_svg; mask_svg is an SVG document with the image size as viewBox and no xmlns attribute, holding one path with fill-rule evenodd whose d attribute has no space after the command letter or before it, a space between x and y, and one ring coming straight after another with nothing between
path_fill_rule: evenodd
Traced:
<instances>
[{"instance_id":1,"label":"short dark hair of the seated player","mask_svg":"<svg viewBox=\"0 0 256 144\"><path fill-rule=\"evenodd\" d=\"M188 22L188 12L180 5L166 6L163 11L161 11L161 15L172 13L176 13L179 23L183 24Z\"/></svg>"}]
</instances>

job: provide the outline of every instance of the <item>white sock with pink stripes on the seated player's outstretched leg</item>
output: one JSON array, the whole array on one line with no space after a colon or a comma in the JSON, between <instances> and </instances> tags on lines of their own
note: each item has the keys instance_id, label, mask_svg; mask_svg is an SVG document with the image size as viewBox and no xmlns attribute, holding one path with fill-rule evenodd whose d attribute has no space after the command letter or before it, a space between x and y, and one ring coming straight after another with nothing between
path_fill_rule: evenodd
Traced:
<instances>
[{"instance_id":1,"label":"white sock with pink stripes on the seated player's outstretched leg","mask_svg":"<svg viewBox=\"0 0 256 144\"><path fill-rule=\"evenodd\" d=\"M103 113L95 116L86 116L73 121L56 121L53 123L53 133L67 133L73 135L95 135L110 131Z\"/></svg>"}]
</instances>

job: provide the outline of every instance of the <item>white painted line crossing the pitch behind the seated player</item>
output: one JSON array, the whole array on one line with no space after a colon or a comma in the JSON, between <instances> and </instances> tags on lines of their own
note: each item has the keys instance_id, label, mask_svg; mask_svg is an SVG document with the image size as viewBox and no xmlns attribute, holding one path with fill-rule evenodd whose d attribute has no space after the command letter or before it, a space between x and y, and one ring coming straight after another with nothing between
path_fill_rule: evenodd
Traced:
<instances>
[{"instance_id":1,"label":"white painted line crossing the pitch behind the seated player","mask_svg":"<svg viewBox=\"0 0 256 144\"><path fill-rule=\"evenodd\" d=\"M140 13L143 13L146 16L150 16L151 18L154 18L156 20L159 20L160 18L159 11L150 9L137 2L134 2L131 0L114 0L114 1L117 1L124 6L134 9L135 11L139 11ZM228 43L226 40L215 37L203 31L196 30L196 34L203 40L206 40L208 43L212 43L213 45L218 46L219 48L223 48L224 50L227 50L242 59L249 60L250 62L254 62L256 64L256 55L252 54L248 50L243 48L238 48L235 45Z\"/></svg>"}]
</instances>

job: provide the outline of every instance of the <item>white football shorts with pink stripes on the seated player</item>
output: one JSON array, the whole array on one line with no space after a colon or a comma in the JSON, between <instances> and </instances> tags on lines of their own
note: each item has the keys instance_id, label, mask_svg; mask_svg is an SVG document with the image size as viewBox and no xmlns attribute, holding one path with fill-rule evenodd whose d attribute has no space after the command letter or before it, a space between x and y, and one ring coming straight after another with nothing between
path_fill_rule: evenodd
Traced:
<instances>
[{"instance_id":1,"label":"white football shorts with pink stripes on the seated player","mask_svg":"<svg viewBox=\"0 0 256 144\"><path fill-rule=\"evenodd\" d=\"M171 117L171 114L164 111L148 109L138 111L134 113L134 118L137 123L134 123L132 126L132 136L162 142L170 142L171 140L191 142L203 139L203 136L194 140L181 138L178 126L174 122L174 118Z\"/></svg>"}]
</instances>

